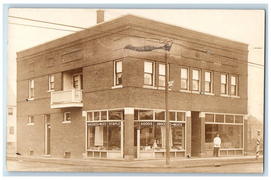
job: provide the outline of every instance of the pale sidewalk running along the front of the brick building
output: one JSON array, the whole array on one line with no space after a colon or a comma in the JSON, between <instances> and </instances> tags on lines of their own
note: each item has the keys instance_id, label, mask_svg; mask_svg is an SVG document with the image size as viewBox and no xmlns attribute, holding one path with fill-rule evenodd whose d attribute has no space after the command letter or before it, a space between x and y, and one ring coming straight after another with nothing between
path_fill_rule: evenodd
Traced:
<instances>
[{"instance_id":1,"label":"pale sidewalk running along the front of the brick building","mask_svg":"<svg viewBox=\"0 0 271 180\"><path fill-rule=\"evenodd\" d=\"M40 163L52 163L73 166L103 166L118 168L189 168L189 167L208 167L214 164L245 164L245 163L263 163L263 155L259 159L256 156L223 156L208 158L171 158L170 165L166 165L166 159L142 160L133 162L120 161L102 161L102 160L83 160L83 159L63 159L35 156L16 156L7 155L6 160L11 161L29 161Z\"/></svg>"}]
</instances>

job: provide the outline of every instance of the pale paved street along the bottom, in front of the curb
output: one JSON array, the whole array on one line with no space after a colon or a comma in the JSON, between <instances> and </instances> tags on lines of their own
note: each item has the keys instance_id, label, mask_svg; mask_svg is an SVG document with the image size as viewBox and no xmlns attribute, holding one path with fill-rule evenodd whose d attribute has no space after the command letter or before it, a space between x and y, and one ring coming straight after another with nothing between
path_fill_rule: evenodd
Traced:
<instances>
[{"instance_id":1,"label":"pale paved street along the bottom, in front of the curb","mask_svg":"<svg viewBox=\"0 0 271 180\"><path fill-rule=\"evenodd\" d=\"M261 173L262 163L225 165L197 168L117 168L97 166L70 166L52 163L7 161L7 171L70 171L70 172L190 172L190 173Z\"/></svg>"}]
</instances>

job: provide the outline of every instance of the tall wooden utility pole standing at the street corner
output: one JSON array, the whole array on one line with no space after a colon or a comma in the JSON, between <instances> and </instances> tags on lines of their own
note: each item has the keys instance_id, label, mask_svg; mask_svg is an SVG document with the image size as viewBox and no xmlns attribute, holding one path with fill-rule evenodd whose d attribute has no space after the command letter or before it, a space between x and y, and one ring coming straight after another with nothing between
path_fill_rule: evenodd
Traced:
<instances>
[{"instance_id":1,"label":"tall wooden utility pole standing at the street corner","mask_svg":"<svg viewBox=\"0 0 271 180\"><path fill-rule=\"evenodd\" d=\"M160 39L159 43L165 44L165 92L166 92L166 165L170 165L170 130L169 130L169 70L168 70L168 52L169 52L169 42L173 40L168 40L164 38L163 40Z\"/></svg>"}]
</instances>

